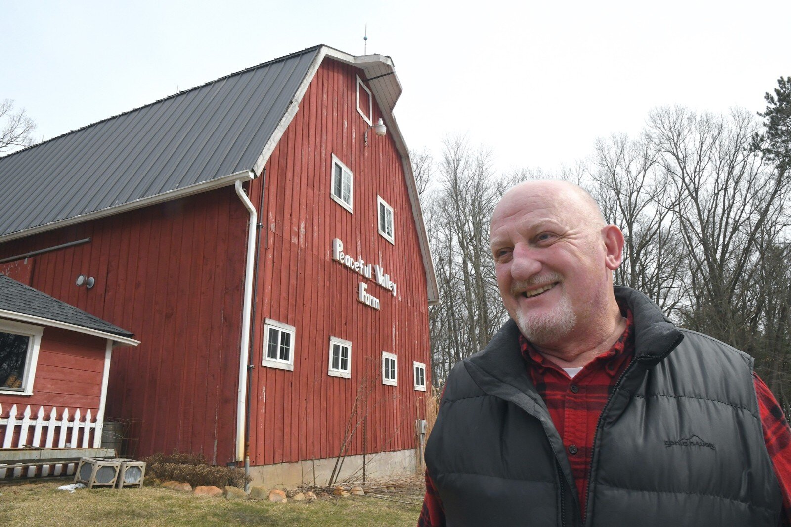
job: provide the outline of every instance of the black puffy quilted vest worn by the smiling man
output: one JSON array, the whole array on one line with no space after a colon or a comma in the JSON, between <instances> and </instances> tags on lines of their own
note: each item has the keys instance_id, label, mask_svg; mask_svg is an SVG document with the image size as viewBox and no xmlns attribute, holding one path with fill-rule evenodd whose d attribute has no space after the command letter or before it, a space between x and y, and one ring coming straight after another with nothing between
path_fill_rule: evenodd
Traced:
<instances>
[{"instance_id":1,"label":"black puffy quilted vest worn by the smiling man","mask_svg":"<svg viewBox=\"0 0 791 527\"><path fill-rule=\"evenodd\" d=\"M638 291L635 357L602 412L586 526L778 525L752 359L673 326ZM426 467L448 525L583 525L566 449L525 369L513 321L454 366Z\"/></svg>"}]
</instances>

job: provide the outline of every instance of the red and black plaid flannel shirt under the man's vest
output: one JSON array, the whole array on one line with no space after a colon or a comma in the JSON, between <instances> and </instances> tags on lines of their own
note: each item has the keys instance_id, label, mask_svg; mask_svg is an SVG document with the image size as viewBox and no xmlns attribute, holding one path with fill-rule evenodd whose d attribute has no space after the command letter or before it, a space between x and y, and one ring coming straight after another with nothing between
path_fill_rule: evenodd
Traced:
<instances>
[{"instance_id":1,"label":"red and black plaid flannel shirt under the man's vest","mask_svg":"<svg viewBox=\"0 0 791 527\"><path fill-rule=\"evenodd\" d=\"M581 496L583 517L596 424L607 397L634 356L633 320L628 310L626 321L626 329L610 350L586 364L573 379L562 368L539 354L527 339L519 337L528 374L547 404L554 426L566 445L577 491ZM766 449L774 463L774 472L783 495L782 525L791 526L791 429L772 392L758 375L754 373L753 377ZM445 511L437 489L426 473L426 496L418 527L441 525L445 525Z\"/></svg>"}]
</instances>

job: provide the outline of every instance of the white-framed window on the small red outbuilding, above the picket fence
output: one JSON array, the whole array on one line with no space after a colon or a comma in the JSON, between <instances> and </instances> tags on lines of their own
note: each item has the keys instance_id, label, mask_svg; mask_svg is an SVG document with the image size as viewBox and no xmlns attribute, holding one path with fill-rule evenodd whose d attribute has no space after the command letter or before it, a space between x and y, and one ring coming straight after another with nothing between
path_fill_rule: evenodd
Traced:
<instances>
[{"instance_id":1,"label":"white-framed window on the small red outbuilding, above the picket fence","mask_svg":"<svg viewBox=\"0 0 791 527\"><path fill-rule=\"evenodd\" d=\"M44 328L0 320L0 393L33 395Z\"/></svg>"}]
</instances>

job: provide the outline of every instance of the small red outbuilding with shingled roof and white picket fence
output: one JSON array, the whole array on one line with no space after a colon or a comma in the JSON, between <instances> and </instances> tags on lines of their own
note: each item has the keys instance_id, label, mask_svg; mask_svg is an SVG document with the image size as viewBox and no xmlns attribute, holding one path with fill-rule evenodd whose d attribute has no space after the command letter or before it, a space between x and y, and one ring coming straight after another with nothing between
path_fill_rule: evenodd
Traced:
<instances>
[{"instance_id":1,"label":"small red outbuilding with shingled roof and white picket fence","mask_svg":"<svg viewBox=\"0 0 791 527\"><path fill-rule=\"evenodd\" d=\"M0 447L99 446L112 348L137 344L0 275Z\"/></svg>"}]
</instances>

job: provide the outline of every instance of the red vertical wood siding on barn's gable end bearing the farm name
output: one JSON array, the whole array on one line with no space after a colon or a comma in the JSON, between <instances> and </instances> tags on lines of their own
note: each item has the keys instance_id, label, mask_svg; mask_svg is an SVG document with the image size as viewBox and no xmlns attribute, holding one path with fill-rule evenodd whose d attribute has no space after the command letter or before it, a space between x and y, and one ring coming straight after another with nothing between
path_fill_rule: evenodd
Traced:
<instances>
[{"instance_id":1,"label":"red vertical wood siding on barn's gable end bearing the farm name","mask_svg":"<svg viewBox=\"0 0 791 527\"><path fill-rule=\"evenodd\" d=\"M429 363L426 272L395 144L373 130L369 147L363 144L368 125L357 112L358 73L364 77L324 61L267 162L265 183L252 183L256 207L262 184L264 191L252 464L335 457L358 394L368 453L414 448L414 420L425 418L426 392L414 390L412 362ZM373 122L380 116L374 100ZM354 214L330 198L331 154L354 173ZM395 245L377 232L377 195L393 207ZM384 267L398 295L331 260L334 238L344 252ZM380 299L379 311L357 300L360 282ZM261 366L265 318L296 328L293 372ZM330 336L352 343L350 379L327 375ZM381 383L382 351L398 356L397 386ZM363 453L361 423L348 453Z\"/></svg>"}]
</instances>

